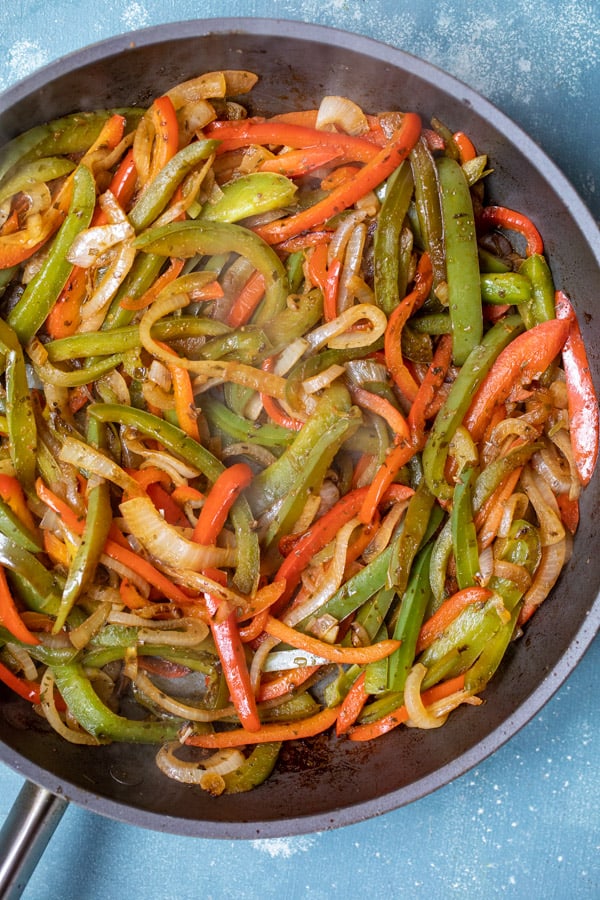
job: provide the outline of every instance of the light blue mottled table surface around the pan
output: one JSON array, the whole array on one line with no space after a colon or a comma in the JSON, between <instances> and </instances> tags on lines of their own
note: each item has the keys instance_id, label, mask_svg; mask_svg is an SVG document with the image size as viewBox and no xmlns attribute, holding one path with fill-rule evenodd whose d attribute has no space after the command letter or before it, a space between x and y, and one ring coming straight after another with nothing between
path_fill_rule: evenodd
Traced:
<instances>
[{"instance_id":1,"label":"light blue mottled table surface around the pan","mask_svg":"<svg viewBox=\"0 0 600 900\"><path fill-rule=\"evenodd\" d=\"M0 90L89 43L162 22L276 16L335 26L445 69L536 140L600 219L597 0L8 0ZM600 897L600 642L474 770L346 828L247 842L164 835L71 806L25 900ZM22 779L0 766L0 824Z\"/></svg>"}]
</instances>

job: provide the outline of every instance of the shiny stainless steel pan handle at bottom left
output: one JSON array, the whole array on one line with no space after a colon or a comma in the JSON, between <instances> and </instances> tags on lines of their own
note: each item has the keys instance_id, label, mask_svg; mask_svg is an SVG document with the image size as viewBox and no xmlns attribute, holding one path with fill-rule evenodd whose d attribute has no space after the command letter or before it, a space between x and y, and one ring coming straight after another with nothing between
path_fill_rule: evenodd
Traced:
<instances>
[{"instance_id":1,"label":"shiny stainless steel pan handle at bottom left","mask_svg":"<svg viewBox=\"0 0 600 900\"><path fill-rule=\"evenodd\" d=\"M26 781L0 831L0 900L18 900L67 808L67 801Z\"/></svg>"}]
</instances>

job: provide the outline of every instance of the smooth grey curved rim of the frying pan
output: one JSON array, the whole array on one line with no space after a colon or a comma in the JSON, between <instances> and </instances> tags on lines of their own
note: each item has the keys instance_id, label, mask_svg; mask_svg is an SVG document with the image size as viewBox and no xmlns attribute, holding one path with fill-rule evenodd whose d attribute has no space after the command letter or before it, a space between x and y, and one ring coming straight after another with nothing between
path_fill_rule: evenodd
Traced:
<instances>
[{"instance_id":1,"label":"smooth grey curved rim of the frying pan","mask_svg":"<svg viewBox=\"0 0 600 900\"><path fill-rule=\"evenodd\" d=\"M478 115L485 117L499 130L502 130L511 143L518 144L521 150L528 155L536 172L545 181L552 184L555 192L560 193L570 216L577 221L581 232L585 234L587 246L600 268L600 231L591 212L558 166L519 125L485 97L435 64L373 38L331 26L277 18L210 18L188 19L124 32L75 50L25 76L0 94L0 113L14 107L25 97L30 96L58 76L75 73L82 67L118 55L132 47L139 49L178 39L205 38L211 34L219 36L230 34L232 37L240 34L265 35L290 37L295 40L322 44L335 43L345 50L375 57L394 68L407 69L410 66L415 76L442 91L460 91L462 102L473 107ZM554 667L544 675L537 688L527 699L481 741L418 781L382 797L361 801L355 805L344 806L327 813L314 813L300 817L296 814L290 815L289 818L252 822L225 822L165 816L94 795L91 791L86 791L76 784L64 781L57 784L57 778L51 772L24 759L18 752L4 744L2 761L22 777L53 793L64 796L65 799L78 806L111 819L156 831L215 839L256 839L258 837L292 836L343 827L419 800L448 784L450 780L464 775L489 757L523 728L550 700L580 662L599 629L600 599L597 596L571 643ZM407 796L409 794L410 796Z\"/></svg>"}]
</instances>

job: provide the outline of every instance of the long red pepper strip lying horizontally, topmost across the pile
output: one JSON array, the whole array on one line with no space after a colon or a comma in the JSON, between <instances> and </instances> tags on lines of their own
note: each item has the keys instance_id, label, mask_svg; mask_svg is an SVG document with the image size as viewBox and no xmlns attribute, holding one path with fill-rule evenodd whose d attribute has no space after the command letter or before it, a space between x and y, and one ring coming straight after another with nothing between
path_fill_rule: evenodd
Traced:
<instances>
[{"instance_id":1,"label":"long red pepper strip lying horizontally, topmost across the pile","mask_svg":"<svg viewBox=\"0 0 600 900\"><path fill-rule=\"evenodd\" d=\"M368 162L378 150L376 144L366 138L341 134L337 131L322 131L274 119L263 122L256 119L211 122L204 129L204 135L221 141L218 154L238 150L249 144L268 144L294 149L333 147L337 153L342 151L347 158Z\"/></svg>"}]
</instances>

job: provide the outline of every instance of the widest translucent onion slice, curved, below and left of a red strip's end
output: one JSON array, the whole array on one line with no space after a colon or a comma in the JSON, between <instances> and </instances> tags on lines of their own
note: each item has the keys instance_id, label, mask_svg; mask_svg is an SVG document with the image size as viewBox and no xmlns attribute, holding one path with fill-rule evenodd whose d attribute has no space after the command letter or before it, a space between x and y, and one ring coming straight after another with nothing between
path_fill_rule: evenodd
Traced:
<instances>
[{"instance_id":1,"label":"widest translucent onion slice, curved, below and left of a red strip's end","mask_svg":"<svg viewBox=\"0 0 600 900\"><path fill-rule=\"evenodd\" d=\"M163 519L152 500L132 497L120 505L128 530L142 547L163 565L198 571L236 564L237 550L204 546L186 538Z\"/></svg>"}]
</instances>

